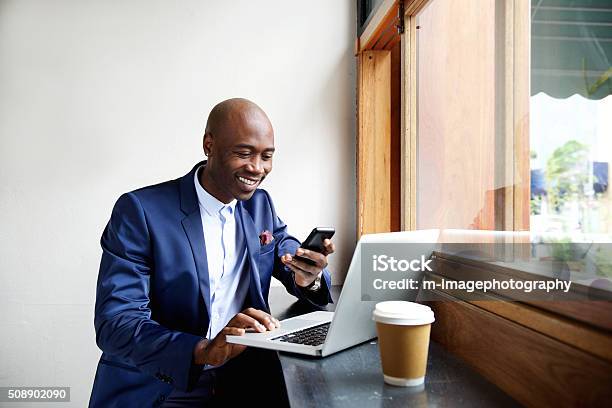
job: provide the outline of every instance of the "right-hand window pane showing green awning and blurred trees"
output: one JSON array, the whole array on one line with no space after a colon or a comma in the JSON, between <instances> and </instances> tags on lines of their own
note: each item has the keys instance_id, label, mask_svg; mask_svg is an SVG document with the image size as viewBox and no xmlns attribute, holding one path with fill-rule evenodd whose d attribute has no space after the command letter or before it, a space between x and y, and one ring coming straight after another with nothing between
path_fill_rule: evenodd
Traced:
<instances>
[{"instance_id":1,"label":"right-hand window pane showing green awning and blurred trees","mask_svg":"<svg viewBox=\"0 0 612 408\"><path fill-rule=\"evenodd\" d=\"M611 75L610 1L532 1L532 231L612 233Z\"/></svg>"}]
</instances>

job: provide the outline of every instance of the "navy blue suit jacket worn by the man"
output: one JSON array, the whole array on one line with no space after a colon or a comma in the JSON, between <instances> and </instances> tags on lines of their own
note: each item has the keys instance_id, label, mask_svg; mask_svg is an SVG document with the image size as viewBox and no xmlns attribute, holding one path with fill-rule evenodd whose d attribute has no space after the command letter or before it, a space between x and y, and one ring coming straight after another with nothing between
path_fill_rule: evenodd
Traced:
<instances>
[{"instance_id":1,"label":"navy blue suit jacket worn by the man","mask_svg":"<svg viewBox=\"0 0 612 408\"><path fill-rule=\"evenodd\" d=\"M123 194L102 235L95 320L103 351L91 407L156 406L174 387L190 390L202 370L193 349L209 323L210 292L202 221L193 184L198 163L187 175ZM330 275L322 293L306 296L280 262L300 242L287 233L264 190L239 201L236 213L248 252L250 286L246 307L269 311L274 276L298 298L331 301ZM274 240L261 246L263 231Z\"/></svg>"}]
</instances>

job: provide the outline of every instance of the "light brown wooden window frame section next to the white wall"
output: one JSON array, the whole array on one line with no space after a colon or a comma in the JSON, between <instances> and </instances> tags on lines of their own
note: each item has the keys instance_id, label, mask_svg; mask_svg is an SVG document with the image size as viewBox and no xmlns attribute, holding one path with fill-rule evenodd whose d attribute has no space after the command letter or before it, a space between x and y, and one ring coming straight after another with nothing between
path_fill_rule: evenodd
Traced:
<instances>
[{"instance_id":1,"label":"light brown wooden window frame section next to the white wall","mask_svg":"<svg viewBox=\"0 0 612 408\"><path fill-rule=\"evenodd\" d=\"M401 229L402 5L384 0L356 41L357 238Z\"/></svg>"}]
</instances>

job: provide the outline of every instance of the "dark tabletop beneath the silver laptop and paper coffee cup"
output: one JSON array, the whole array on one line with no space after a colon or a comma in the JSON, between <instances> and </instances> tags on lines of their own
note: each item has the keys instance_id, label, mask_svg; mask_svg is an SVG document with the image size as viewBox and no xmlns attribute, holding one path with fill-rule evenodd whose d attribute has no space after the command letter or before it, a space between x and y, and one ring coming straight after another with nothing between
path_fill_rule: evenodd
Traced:
<instances>
[{"instance_id":1,"label":"dark tabletop beneath the silver laptop and paper coffee cup","mask_svg":"<svg viewBox=\"0 0 612 408\"><path fill-rule=\"evenodd\" d=\"M332 297L338 298L340 287ZM279 319L312 311L285 292L271 288L270 307ZM329 305L327 310L333 310ZM280 353L292 407L516 407L510 396L435 342L430 343L421 389L383 382L376 340L325 358Z\"/></svg>"}]
</instances>

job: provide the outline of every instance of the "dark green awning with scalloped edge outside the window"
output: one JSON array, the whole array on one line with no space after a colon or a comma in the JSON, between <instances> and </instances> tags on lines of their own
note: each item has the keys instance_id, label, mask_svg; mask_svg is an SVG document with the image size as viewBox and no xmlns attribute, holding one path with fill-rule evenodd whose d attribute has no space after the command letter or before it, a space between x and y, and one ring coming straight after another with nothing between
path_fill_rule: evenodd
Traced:
<instances>
[{"instance_id":1,"label":"dark green awning with scalloped edge outside the window","mask_svg":"<svg viewBox=\"0 0 612 408\"><path fill-rule=\"evenodd\" d=\"M612 0L531 1L531 94L612 94Z\"/></svg>"}]
</instances>

